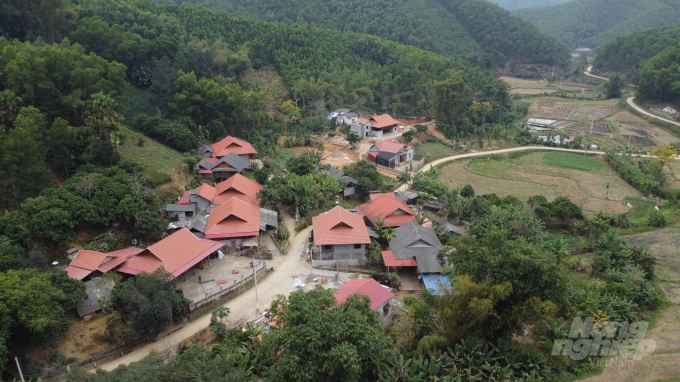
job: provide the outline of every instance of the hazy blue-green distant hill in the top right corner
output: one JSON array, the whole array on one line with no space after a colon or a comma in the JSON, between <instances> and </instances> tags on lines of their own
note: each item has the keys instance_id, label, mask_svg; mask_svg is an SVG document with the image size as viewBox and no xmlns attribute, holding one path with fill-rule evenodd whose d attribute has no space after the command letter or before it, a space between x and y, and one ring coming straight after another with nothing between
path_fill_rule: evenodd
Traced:
<instances>
[{"instance_id":1,"label":"hazy blue-green distant hill in the top right corner","mask_svg":"<svg viewBox=\"0 0 680 382\"><path fill-rule=\"evenodd\" d=\"M575 0L514 13L573 47L594 48L634 31L679 24L680 0Z\"/></svg>"}]
</instances>

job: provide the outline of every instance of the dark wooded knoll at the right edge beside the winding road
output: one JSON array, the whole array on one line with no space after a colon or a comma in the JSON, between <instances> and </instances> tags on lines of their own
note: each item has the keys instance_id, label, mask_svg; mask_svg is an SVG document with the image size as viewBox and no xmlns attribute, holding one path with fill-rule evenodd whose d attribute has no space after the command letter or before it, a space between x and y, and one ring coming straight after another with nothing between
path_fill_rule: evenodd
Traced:
<instances>
[{"instance_id":1,"label":"dark wooded knoll at the right edge beside the winding road","mask_svg":"<svg viewBox=\"0 0 680 382\"><path fill-rule=\"evenodd\" d=\"M636 94L642 100L680 102L680 43L645 61Z\"/></svg>"}]
</instances>

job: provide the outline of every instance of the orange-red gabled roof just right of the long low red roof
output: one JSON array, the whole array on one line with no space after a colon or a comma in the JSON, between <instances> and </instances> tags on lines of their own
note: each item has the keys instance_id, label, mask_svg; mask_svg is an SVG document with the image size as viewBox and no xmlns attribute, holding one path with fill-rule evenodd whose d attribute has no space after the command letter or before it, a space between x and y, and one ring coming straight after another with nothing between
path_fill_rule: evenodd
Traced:
<instances>
[{"instance_id":1,"label":"orange-red gabled roof just right of the long low red roof","mask_svg":"<svg viewBox=\"0 0 680 382\"><path fill-rule=\"evenodd\" d=\"M260 233L260 207L231 198L210 211L205 237L222 239L257 236Z\"/></svg>"}]
</instances>

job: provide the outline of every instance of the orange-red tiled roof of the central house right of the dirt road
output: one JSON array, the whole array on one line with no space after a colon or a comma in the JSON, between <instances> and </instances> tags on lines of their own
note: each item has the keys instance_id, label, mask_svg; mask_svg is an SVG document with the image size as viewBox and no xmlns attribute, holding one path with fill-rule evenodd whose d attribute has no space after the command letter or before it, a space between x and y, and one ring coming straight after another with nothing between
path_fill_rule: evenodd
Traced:
<instances>
[{"instance_id":1,"label":"orange-red tiled roof of the central house right of the dirt road","mask_svg":"<svg viewBox=\"0 0 680 382\"><path fill-rule=\"evenodd\" d=\"M314 216L312 226L315 245L371 243L364 219L340 206Z\"/></svg>"}]
</instances>

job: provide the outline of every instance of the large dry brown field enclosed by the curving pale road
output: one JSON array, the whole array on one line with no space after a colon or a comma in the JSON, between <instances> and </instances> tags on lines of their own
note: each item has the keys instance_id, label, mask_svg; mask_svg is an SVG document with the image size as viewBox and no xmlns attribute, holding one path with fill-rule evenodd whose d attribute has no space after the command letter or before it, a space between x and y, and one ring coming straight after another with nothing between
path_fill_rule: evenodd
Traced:
<instances>
[{"instance_id":1,"label":"large dry brown field enclosed by the curving pale road","mask_svg":"<svg viewBox=\"0 0 680 382\"><path fill-rule=\"evenodd\" d=\"M476 194L496 193L498 196L514 195L522 200L543 195L548 200L566 196L584 211L595 213L627 212L623 204L626 196L640 193L619 178L608 166L583 162L571 167L592 167L590 171L545 164L546 153L535 152L514 159L474 159L452 162L441 169L441 179L454 187L472 185ZM575 154L578 157L577 154ZM566 156L549 156L547 163L568 161ZM592 159L592 158L591 158ZM596 159L592 159L597 161ZM584 164L585 163L585 164ZM607 197L607 185L609 194Z\"/></svg>"}]
</instances>

